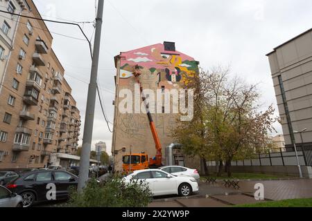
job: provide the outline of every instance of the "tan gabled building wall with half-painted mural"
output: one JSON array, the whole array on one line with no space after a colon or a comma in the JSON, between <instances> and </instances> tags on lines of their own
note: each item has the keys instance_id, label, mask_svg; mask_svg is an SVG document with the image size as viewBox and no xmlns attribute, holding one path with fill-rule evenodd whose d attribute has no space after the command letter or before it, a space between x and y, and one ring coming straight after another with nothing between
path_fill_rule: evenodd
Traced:
<instances>
[{"instance_id":1,"label":"tan gabled building wall with half-painted mural","mask_svg":"<svg viewBox=\"0 0 312 221\"><path fill-rule=\"evenodd\" d=\"M131 91L132 95L136 94L137 81L133 75L136 71L135 68L138 67L141 72L139 79L143 89L152 90L155 95L157 90L161 91L159 96L164 101L165 91L181 88L189 77L196 75L198 64L193 57L175 50L175 43L168 41L164 41L164 44L154 44L121 52L115 57L116 97L114 100L112 155L116 171L121 171L122 156L129 154L130 148L132 153L144 152L148 154L148 157L154 157L156 154L148 117L144 111L135 111L135 105L141 104L141 99L137 100L135 96L132 96L130 113L120 110L120 107L124 106L124 97L121 98L124 96L123 92ZM150 106L150 108L152 107ZM175 127L177 113L172 111L167 113L165 106L159 106L159 108L158 111L154 109L154 113L151 115L162 145L162 162L165 164L165 148L175 142L171 137L171 131ZM141 110L144 110L144 106L141 106Z\"/></svg>"}]
</instances>

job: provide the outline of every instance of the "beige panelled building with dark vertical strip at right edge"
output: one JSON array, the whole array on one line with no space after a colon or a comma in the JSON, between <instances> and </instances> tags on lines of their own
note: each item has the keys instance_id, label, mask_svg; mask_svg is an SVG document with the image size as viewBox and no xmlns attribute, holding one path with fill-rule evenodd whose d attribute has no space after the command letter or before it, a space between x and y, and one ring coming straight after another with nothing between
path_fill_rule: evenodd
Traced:
<instances>
[{"instance_id":1,"label":"beige panelled building with dark vertical strip at right edge","mask_svg":"<svg viewBox=\"0 0 312 221\"><path fill-rule=\"evenodd\" d=\"M277 46L267 56L286 151L293 151L294 144L298 150L306 146L307 151L312 145L312 29Z\"/></svg>"}]
</instances>

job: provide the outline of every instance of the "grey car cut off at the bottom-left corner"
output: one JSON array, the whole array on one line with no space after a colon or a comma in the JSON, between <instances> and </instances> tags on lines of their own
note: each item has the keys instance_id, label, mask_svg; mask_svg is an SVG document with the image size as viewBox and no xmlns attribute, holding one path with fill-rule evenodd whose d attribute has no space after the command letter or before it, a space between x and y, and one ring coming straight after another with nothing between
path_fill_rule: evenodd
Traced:
<instances>
[{"instance_id":1,"label":"grey car cut off at the bottom-left corner","mask_svg":"<svg viewBox=\"0 0 312 221\"><path fill-rule=\"evenodd\" d=\"M22 207L23 198L16 193L12 193L6 187L0 186L0 207Z\"/></svg>"}]
</instances>

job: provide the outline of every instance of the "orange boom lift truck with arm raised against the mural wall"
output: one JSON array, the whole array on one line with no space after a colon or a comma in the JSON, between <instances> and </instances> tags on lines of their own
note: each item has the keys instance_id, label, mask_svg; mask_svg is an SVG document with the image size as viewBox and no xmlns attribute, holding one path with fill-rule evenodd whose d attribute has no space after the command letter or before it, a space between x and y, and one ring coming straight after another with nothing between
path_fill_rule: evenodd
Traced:
<instances>
[{"instance_id":1,"label":"orange boom lift truck with arm raised against the mural wall","mask_svg":"<svg viewBox=\"0 0 312 221\"><path fill-rule=\"evenodd\" d=\"M148 122L150 124L150 131L152 132L153 139L155 142L156 155L153 158L150 157L150 159L148 160L148 155L146 153L142 152L132 154L130 150L130 155L123 155L123 173L130 173L132 171L148 168L155 169L158 168L159 166L162 166L162 145L160 144L152 115L150 115L150 110L148 108L148 105L146 104L146 97L143 93L141 81L139 80L141 71L138 65L135 66L135 72L133 73L133 75L135 76L135 79L137 80L137 83L140 86L141 99L146 107L146 114L148 116Z\"/></svg>"}]
</instances>

